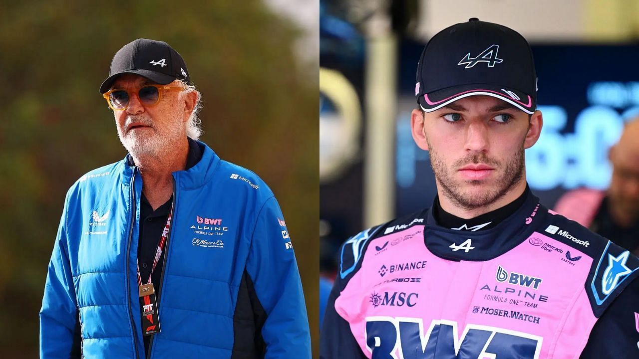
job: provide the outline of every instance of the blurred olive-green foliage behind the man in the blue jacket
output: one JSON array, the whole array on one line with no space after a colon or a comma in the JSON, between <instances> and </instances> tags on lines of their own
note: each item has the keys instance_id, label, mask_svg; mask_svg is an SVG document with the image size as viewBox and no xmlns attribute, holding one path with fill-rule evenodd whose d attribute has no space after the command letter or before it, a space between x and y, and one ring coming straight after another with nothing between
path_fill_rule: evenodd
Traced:
<instances>
[{"instance_id":1,"label":"blurred olive-green foliage behind the man in the blue jacket","mask_svg":"<svg viewBox=\"0 0 639 359\"><path fill-rule=\"evenodd\" d=\"M279 200L318 344L318 70L260 1L0 2L0 357L38 356L38 311L63 200L123 158L98 86L135 38L178 50L203 94L202 140Z\"/></svg>"}]
</instances>

